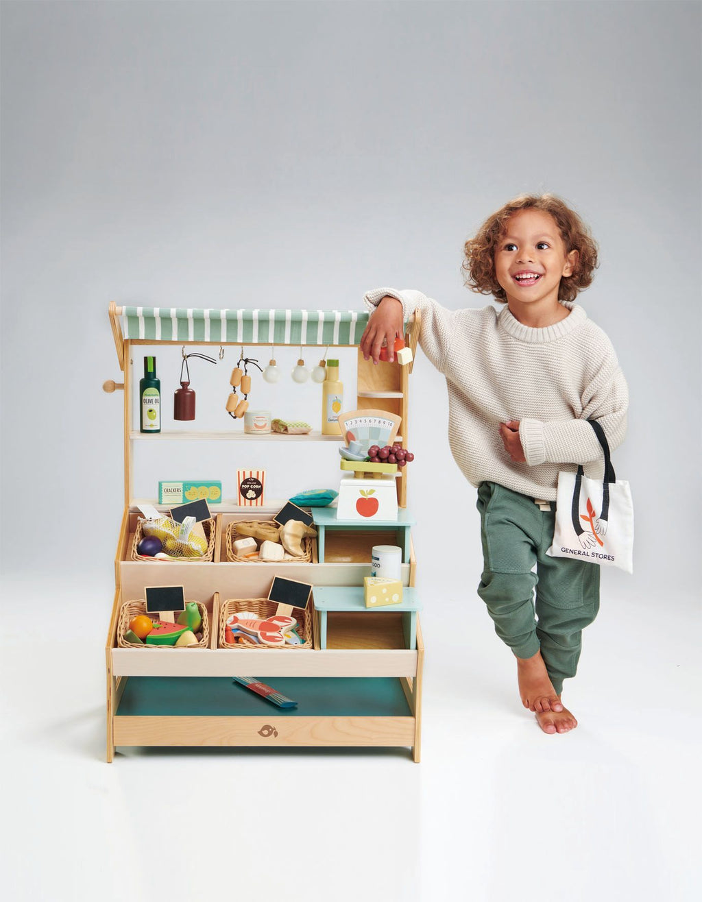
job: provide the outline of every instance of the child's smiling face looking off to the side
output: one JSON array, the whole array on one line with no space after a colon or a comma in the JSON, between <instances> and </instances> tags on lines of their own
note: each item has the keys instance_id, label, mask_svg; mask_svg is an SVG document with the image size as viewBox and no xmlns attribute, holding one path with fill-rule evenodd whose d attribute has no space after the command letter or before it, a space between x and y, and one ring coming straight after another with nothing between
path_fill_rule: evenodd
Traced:
<instances>
[{"instance_id":1,"label":"child's smiling face looking off to the side","mask_svg":"<svg viewBox=\"0 0 702 902\"><path fill-rule=\"evenodd\" d=\"M494 274L512 308L556 308L559 283L572 275L577 251L566 254L556 220L542 210L519 210L507 220L494 252Z\"/></svg>"}]
</instances>

